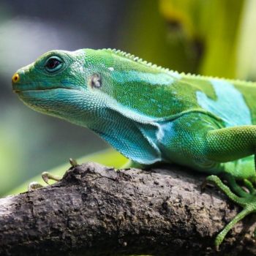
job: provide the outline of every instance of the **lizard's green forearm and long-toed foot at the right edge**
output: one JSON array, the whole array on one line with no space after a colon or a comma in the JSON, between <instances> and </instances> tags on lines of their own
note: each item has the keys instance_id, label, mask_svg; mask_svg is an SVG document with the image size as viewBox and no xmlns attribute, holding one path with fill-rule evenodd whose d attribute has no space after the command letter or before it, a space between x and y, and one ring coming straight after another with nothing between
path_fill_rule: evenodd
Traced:
<instances>
[{"instance_id":1,"label":"lizard's green forearm and long-toed foot at the right edge","mask_svg":"<svg viewBox=\"0 0 256 256\"><path fill-rule=\"evenodd\" d=\"M208 157L214 161L227 162L235 159L240 159L251 154L255 154L256 148L256 127L255 126L241 126L241 127L230 127L224 129L217 129L209 131L206 135L208 143ZM225 172L227 173L226 178L229 186L235 191L240 197L233 194L230 189L222 183L217 176L208 176L207 180L213 182L225 195L237 203L243 208L243 210L227 224L215 240L215 245L218 247L227 232L246 215L256 212L256 195L255 187L252 182L247 178L255 181L255 170L252 167L244 165L241 172L230 170L228 164L224 164ZM241 169L238 166L238 169ZM244 185L248 189L248 193L238 187L235 178L244 180Z\"/></svg>"}]
</instances>

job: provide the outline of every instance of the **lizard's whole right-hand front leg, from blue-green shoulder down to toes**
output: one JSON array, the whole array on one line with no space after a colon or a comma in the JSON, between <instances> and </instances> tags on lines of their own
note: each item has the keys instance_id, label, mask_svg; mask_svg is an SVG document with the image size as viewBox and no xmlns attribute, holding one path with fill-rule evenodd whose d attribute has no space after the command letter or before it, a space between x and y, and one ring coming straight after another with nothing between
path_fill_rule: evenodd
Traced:
<instances>
[{"instance_id":1,"label":"lizard's whole right-hand front leg, from blue-green shoulder down to toes","mask_svg":"<svg viewBox=\"0 0 256 256\"><path fill-rule=\"evenodd\" d=\"M219 246L236 222L256 211L255 188L252 185L255 162L249 157L255 154L256 126L219 128L209 116L190 114L171 124L164 124L164 128L165 137L161 143L166 147L170 160L173 157L182 165L222 176L228 187L217 176L209 176L208 181L244 208L217 236L215 244ZM244 181L249 192L240 187L237 180Z\"/></svg>"}]
</instances>

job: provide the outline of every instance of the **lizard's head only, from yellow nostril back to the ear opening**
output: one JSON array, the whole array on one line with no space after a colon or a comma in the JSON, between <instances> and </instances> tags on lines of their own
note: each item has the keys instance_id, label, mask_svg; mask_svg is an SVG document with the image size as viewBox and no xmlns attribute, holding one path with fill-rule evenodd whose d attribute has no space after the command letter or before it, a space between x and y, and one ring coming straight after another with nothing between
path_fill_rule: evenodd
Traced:
<instances>
[{"instance_id":1,"label":"lizard's head only, from yellow nostril back to the ear opening","mask_svg":"<svg viewBox=\"0 0 256 256\"><path fill-rule=\"evenodd\" d=\"M99 84L97 72L86 67L85 50L51 50L12 77L13 91L30 108L75 123L100 104L93 92Z\"/></svg>"}]
</instances>

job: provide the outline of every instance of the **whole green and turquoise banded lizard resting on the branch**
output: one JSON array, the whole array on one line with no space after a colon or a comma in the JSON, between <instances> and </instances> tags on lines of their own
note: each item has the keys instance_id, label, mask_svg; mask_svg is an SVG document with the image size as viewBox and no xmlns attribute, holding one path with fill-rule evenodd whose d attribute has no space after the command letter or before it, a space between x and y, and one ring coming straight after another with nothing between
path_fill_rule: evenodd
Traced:
<instances>
[{"instance_id":1,"label":"whole green and turquoise banded lizard resting on the branch","mask_svg":"<svg viewBox=\"0 0 256 256\"><path fill-rule=\"evenodd\" d=\"M211 175L207 180L243 208L217 246L256 211L256 83L178 73L121 50L83 49L45 53L18 69L12 88L30 108L88 127L132 162L175 162Z\"/></svg>"}]
</instances>

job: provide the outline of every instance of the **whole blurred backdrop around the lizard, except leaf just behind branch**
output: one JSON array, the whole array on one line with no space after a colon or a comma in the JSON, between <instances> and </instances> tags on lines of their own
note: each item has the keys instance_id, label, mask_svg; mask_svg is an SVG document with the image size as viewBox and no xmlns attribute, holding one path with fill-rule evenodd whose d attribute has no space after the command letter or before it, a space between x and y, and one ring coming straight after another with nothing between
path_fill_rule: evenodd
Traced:
<instances>
[{"instance_id":1,"label":"whole blurred backdrop around the lizard, except leaf just behind branch","mask_svg":"<svg viewBox=\"0 0 256 256\"><path fill-rule=\"evenodd\" d=\"M255 12L255 0L1 0L0 195L108 148L23 105L11 89L16 69L48 50L119 48L179 72L256 80Z\"/></svg>"}]
</instances>

